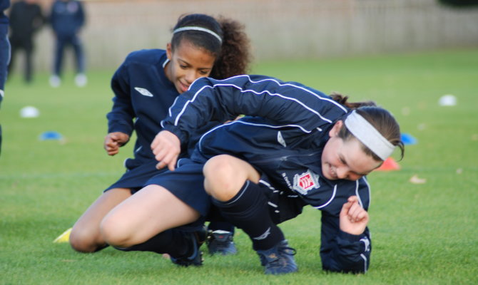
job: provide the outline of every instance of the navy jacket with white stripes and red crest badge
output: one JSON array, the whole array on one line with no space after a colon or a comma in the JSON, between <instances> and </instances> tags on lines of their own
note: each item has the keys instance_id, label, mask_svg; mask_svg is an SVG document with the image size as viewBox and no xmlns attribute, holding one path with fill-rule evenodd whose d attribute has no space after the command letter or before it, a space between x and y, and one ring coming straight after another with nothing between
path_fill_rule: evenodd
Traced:
<instances>
[{"instance_id":1,"label":"navy jacket with white stripes and red crest badge","mask_svg":"<svg viewBox=\"0 0 478 285\"><path fill-rule=\"evenodd\" d=\"M328 131L349 111L300 83L267 76L200 78L178 97L161 125L187 142L209 120L247 115L205 133L191 158L230 154L250 162L268 178L265 183L322 211L324 269L365 272L370 264L369 231L358 236L340 231L339 213L352 195L368 209L370 187L365 177L327 180L320 163Z\"/></svg>"}]
</instances>

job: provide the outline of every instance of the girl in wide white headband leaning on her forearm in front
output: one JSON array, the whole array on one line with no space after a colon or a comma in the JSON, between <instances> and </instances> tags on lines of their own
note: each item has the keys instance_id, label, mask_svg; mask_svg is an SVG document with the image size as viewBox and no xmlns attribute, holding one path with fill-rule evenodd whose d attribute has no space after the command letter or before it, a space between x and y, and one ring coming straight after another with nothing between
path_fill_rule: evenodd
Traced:
<instances>
[{"instance_id":1,"label":"girl in wide white headband leaning on her forearm in front","mask_svg":"<svg viewBox=\"0 0 478 285\"><path fill-rule=\"evenodd\" d=\"M205 133L175 170L180 144L195 128L238 114L248 116ZM200 265L200 237L173 239L179 234L172 228L225 217L248 234L265 274L288 274L298 270L295 250L277 224L308 204L322 212L322 268L367 271L372 247L365 175L396 147L402 156L404 151L399 125L387 110L300 83L243 75L195 81L161 124L151 147L158 167L170 171L151 178L103 219L108 243L133 247L163 237L158 250L171 253L175 263ZM136 208L141 211L129 214ZM156 227L143 225L145 217ZM183 252L172 253L175 248Z\"/></svg>"}]
</instances>

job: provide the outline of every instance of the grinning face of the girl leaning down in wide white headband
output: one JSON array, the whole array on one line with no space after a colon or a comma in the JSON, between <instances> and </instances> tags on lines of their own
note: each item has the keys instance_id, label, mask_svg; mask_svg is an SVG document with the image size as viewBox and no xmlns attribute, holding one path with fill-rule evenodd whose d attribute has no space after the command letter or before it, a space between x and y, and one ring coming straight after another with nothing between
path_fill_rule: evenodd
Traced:
<instances>
[{"instance_id":1,"label":"grinning face of the girl leaning down in wide white headband","mask_svg":"<svg viewBox=\"0 0 478 285\"><path fill-rule=\"evenodd\" d=\"M374 160L362 150L356 138L342 140L338 137L343 122L337 121L330 130L330 139L322 152L322 175L328 180L359 180L379 167L382 162Z\"/></svg>"}]
</instances>

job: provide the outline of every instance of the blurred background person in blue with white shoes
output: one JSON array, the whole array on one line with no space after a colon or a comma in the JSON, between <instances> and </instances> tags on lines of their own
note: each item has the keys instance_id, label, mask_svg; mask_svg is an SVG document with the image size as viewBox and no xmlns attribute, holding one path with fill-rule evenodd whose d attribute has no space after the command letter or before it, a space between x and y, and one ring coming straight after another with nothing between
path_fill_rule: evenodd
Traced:
<instances>
[{"instance_id":1,"label":"blurred background person in blue with white shoes","mask_svg":"<svg viewBox=\"0 0 478 285\"><path fill-rule=\"evenodd\" d=\"M64 50L66 46L72 46L76 61L76 86L86 86L85 56L83 43L79 36L81 28L85 24L83 5L77 0L54 1L51 6L50 23L56 38L50 85L55 88L60 86Z\"/></svg>"}]
</instances>

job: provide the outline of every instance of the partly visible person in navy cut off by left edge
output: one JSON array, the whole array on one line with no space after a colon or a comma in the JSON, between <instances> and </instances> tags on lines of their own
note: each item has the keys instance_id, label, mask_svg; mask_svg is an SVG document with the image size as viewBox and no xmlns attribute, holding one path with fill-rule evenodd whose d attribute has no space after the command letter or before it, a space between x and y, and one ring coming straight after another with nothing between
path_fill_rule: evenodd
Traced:
<instances>
[{"instance_id":1,"label":"partly visible person in navy cut off by left edge","mask_svg":"<svg viewBox=\"0 0 478 285\"><path fill-rule=\"evenodd\" d=\"M6 66L10 61L9 43L9 17L5 10L9 9L10 0L0 0L0 103L4 99L4 86L6 81ZM1 153L1 125L0 125L0 153Z\"/></svg>"}]
</instances>

